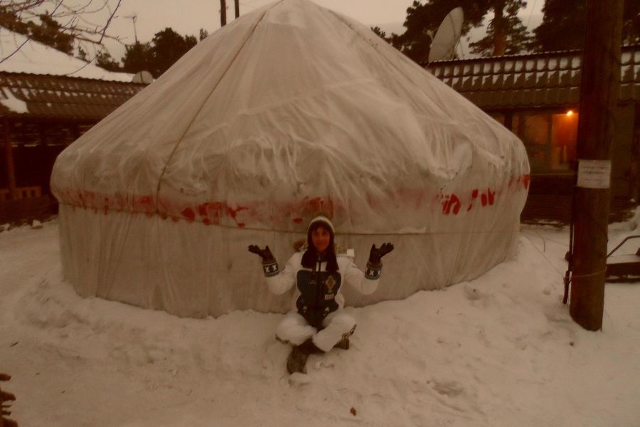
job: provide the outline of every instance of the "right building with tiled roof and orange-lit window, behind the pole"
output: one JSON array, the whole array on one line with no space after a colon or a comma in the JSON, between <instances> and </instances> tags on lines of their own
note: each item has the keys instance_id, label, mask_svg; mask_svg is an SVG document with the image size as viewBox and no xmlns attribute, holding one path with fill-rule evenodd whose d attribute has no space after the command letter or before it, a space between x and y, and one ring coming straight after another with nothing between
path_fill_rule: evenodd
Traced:
<instances>
[{"instance_id":1,"label":"right building with tiled roof and orange-lit window, behind the pole","mask_svg":"<svg viewBox=\"0 0 640 427\"><path fill-rule=\"evenodd\" d=\"M624 46L621 59L612 144L614 210L637 203L640 179L640 45ZM531 165L524 220L570 217L581 63L582 51L560 51L425 65L524 142Z\"/></svg>"}]
</instances>

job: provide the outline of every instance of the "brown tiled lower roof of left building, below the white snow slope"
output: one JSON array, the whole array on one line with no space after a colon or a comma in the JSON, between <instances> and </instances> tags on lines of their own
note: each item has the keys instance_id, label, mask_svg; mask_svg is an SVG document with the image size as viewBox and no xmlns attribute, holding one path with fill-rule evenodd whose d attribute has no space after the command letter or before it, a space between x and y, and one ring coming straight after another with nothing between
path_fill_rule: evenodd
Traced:
<instances>
[{"instance_id":1,"label":"brown tiled lower roof of left building, below the white snow slope","mask_svg":"<svg viewBox=\"0 0 640 427\"><path fill-rule=\"evenodd\" d=\"M98 121L146 85L0 72L0 116Z\"/></svg>"}]
</instances>

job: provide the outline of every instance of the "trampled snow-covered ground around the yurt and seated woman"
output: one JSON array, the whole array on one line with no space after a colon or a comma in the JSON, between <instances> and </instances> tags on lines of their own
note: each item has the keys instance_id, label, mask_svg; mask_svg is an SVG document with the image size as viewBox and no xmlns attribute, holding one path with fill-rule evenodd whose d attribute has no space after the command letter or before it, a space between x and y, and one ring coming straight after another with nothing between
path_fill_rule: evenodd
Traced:
<instances>
[{"instance_id":1,"label":"trampled snow-covered ground around the yurt and seated woman","mask_svg":"<svg viewBox=\"0 0 640 427\"><path fill-rule=\"evenodd\" d=\"M638 222L611 226L610 246ZM289 376L288 348L274 339L281 315L193 320L83 299L61 278L55 221L4 231L0 372L13 376L2 384L18 398L11 418L47 427L640 426L640 284L607 284L602 331L582 330L561 304L567 241L566 228L526 226L517 258L477 280L350 309L351 349L311 356L307 376Z\"/></svg>"}]
</instances>

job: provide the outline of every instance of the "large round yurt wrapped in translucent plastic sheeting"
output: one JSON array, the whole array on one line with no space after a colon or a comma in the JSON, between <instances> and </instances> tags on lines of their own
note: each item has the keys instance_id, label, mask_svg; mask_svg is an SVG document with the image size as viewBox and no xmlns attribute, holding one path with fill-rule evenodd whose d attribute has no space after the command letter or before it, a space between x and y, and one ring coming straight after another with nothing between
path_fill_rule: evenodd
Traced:
<instances>
[{"instance_id":1,"label":"large round yurt wrapped in translucent plastic sheeting","mask_svg":"<svg viewBox=\"0 0 640 427\"><path fill-rule=\"evenodd\" d=\"M366 26L280 0L211 34L60 154L63 274L80 295L204 317L284 312L281 265L308 221L366 264L373 295L407 297L513 254L529 166L522 142Z\"/></svg>"}]
</instances>

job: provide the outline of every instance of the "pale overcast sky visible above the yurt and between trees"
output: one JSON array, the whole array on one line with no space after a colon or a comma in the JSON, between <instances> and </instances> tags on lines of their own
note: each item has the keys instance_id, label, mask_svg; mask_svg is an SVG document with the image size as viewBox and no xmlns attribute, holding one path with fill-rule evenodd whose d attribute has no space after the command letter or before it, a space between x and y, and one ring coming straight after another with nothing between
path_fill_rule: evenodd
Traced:
<instances>
[{"instance_id":1,"label":"pale overcast sky visible above the yurt and between trees","mask_svg":"<svg viewBox=\"0 0 640 427\"><path fill-rule=\"evenodd\" d=\"M240 0L240 15L246 14L273 0ZM407 8L412 0L314 0L317 4L351 16L368 26L380 26L383 30L401 33ZM541 21L540 9L544 0L529 0L521 18L530 27ZM134 42L134 25L131 19L136 15L136 31L141 42L151 41L154 34L171 27L182 35L198 37L200 28L213 33L220 28L220 0L122 0L122 5L114 19L110 32L119 36L124 43ZM227 0L227 20L235 16L233 0ZM482 33L475 31L474 33ZM122 58L124 46L105 43L114 58Z\"/></svg>"}]
</instances>

